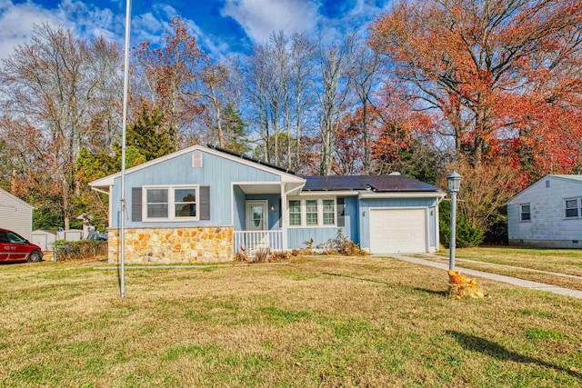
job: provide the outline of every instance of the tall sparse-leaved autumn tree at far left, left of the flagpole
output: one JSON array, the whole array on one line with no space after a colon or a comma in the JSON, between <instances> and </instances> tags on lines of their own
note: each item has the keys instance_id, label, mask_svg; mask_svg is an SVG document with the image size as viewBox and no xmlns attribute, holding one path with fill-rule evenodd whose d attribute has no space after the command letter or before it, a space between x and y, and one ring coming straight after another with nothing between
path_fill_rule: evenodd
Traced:
<instances>
[{"instance_id":1,"label":"tall sparse-leaved autumn tree at far left, left of the flagpole","mask_svg":"<svg viewBox=\"0 0 582 388\"><path fill-rule=\"evenodd\" d=\"M82 147L113 143L121 55L115 44L85 42L64 28L37 25L0 68L0 137L11 171L10 190L52 214L75 221ZM118 105L117 105L118 106Z\"/></svg>"}]
</instances>

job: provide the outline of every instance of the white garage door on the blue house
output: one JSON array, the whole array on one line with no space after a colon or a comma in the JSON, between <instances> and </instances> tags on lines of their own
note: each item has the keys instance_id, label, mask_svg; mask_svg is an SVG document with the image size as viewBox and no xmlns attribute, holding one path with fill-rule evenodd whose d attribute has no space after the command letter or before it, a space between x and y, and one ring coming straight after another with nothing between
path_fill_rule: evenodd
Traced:
<instances>
[{"instance_id":1,"label":"white garage door on the blue house","mask_svg":"<svg viewBox=\"0 0 582 388\"><path fill-rule=\"evenodd\" d=\"M370 252L426 252L426 210L370 209Z\"/></svg>"}]
</instances>

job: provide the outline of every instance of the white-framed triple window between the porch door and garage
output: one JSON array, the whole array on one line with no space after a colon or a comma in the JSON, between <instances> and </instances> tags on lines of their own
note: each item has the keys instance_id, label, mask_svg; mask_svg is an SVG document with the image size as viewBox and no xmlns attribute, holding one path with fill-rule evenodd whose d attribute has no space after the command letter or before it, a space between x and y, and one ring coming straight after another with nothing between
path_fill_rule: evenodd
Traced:
<instances>
[{"instance_id":1,"label":"white-framed triple window between the porch door and garage","mask_svg":"<svg viewBox=\"0 0 582 388\"><path fill-rule=\"evenodd\" d=\"M335 198L290 199L287 203L290 227L336 226Z\"/></svg>"}]
</instances>

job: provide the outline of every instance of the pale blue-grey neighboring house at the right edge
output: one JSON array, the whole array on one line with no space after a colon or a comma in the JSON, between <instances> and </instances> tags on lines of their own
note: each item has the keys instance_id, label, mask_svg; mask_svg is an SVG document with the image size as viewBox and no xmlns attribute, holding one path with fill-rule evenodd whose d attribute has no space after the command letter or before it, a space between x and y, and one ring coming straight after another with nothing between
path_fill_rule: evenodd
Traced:
<instances>
[{"instance_id":1,"label":"pale blue-grey neighboring house at the right edge","mask_svg":"<svg viewBox=\"0 0 582 388\"><path fill-rule=\"evenodd\" d=\"M546 175L507 201L509 244L582 248L582 175Z\"/></svg>"}]
</instances>

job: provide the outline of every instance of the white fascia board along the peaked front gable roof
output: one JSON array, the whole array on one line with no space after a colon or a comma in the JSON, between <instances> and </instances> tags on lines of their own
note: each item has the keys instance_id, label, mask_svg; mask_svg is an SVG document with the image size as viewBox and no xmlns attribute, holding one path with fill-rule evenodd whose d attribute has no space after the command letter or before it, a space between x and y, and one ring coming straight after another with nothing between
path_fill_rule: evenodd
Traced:
<instances>
[{"instance_id":1,"label":"white fascia board along the peaked front gable roof","mask_svg":"<svg viewBox=\"0 0 582 388\"><path fill-rule=\"evenodd\" d=\"M284 171L279 171L276 168L269 167L269 166L264 165L264 164L258 164L256 162L252 162L250 160L243 159L242 157L236 157L235 155L225 154L225 153L222 153L220 151L216 151L216 150L207 148L204 145L200 145L200 144L195 144L195 145L186 147L182 150L176 151L175 153L166 154L164 156L158 157L157 159L150 160L149 162L146 162L143 164L138 164L135 167L131 167L131 168L128 168L127 170L125 170L125 174L135 173L135 171L139 171L142 168L146 168L146 167L149 167L150 165L162 163L162 162L165 162L166 160L173 159L177 156L187 154L187 153L190 153L193 151L202 151L202 152L205 152L208 154L213 154L213 155L216 155L218 157L223 157L225 159L231 160L231 161L236 162L236 163L245 164L245 165L248 165L251 167L255 167L259 170L263 170L263 171L266 171L266 172L271 173L271 174L277 174L277 175L281 176L281 182L285 182L285 183L294 183L294 182L295 183L305 183L306 182L305 179L300 178L294 174L289 174L289 173L286 173ZM97 179L97 180L89 183L89 185L91 187L112 186L115 182L115 178L117 178L119 176L121 176L121 172L107 175L103 178Z\"/></svg>"}]
</instances>

